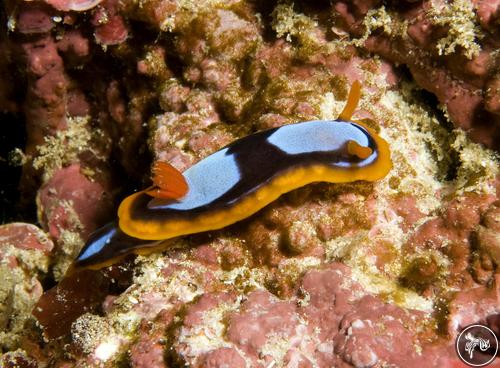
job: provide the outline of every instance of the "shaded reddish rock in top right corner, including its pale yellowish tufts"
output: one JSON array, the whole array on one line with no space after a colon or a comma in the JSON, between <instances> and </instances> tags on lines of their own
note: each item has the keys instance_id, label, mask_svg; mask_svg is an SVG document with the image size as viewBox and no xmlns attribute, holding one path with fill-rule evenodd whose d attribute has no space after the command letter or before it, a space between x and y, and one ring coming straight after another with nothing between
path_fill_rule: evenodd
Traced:
<instances>
[{"instance_id":1,"label":"shaded reddish rock in top right corner, including its pale yellowish tufts","mask_svg":"<svg viewBox=\"0 0 500 368\"><path fill-rule=\"evenodd\" d=\"M358 45L406 65L455 126L497 150L500 119L491 105L500 94L491 87L498 79L499 31L491 25L498 6L496 1L422 1L394 9L379 1L334 4L339 26L358 36Z\"/></svg>"}]
</instances>

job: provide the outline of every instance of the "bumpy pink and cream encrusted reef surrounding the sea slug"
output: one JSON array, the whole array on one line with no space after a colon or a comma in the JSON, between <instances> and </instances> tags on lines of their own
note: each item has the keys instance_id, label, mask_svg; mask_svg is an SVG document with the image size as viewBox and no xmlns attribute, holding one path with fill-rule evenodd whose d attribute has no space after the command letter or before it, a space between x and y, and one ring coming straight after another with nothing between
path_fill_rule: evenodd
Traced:
<instances>
[{"instance_id":1,"label":"bumpy pink and cream encrusted reef surrounding the sea slug","mask_svg":"<svg viewBox=\"0 0 500 368\"><path fill-rule=\"evenodd\" d=\"M0 227L0 365L458 367L461 328L500 332L499 4L396 3L7 1L0 108L41 228ZM64 277L151 158L336 118L354 80L386 178Z\"/></svg>"}]
</instances>

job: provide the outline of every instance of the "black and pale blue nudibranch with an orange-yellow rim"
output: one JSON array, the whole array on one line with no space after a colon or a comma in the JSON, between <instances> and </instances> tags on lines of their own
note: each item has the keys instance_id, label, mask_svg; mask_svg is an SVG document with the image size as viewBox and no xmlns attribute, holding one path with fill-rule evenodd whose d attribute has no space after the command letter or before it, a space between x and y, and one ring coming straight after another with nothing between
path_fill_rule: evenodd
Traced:
<instances>
[{"instance_id":1,"label":"black and pale blue nudibranch with an orange-yellow rim","mask_svg":"<svg viewBox=\"0 0 500 368\"><path fill-rule=\"evenodd\" d=\"M99 268L126 254L164 250L166 239L231 225L312 182L384 177L392 167L387 142L362 121L351 120L360 89L354 82L337 120L248 135L182 174L167 163L156 163L153 187L123 200L118 224L92 234L75 267Z\"/></svg>"}]
</instances>

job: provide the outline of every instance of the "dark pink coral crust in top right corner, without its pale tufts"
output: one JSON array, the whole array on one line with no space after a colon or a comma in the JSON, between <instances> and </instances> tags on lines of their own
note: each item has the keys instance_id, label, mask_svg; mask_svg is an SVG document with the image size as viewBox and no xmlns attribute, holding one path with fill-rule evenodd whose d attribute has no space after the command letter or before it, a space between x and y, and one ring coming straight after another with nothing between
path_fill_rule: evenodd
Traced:
<instances>
[{"instance_id":1,"label":"dark pink coral crust in top right corner, without its pale tufts","mask_svg":"<svg viewBox=\"0 0 500 368\"><path fill-rule=\"evenodd\" d=\"M339 1L335 4L335 10L341 25L359 36L363 34L363 21L370 21L367 16L369 10L375 10L376 6L379 6L378 1ZM410 37L379 32L370 35L363 46L388 60L407 65L415 81L434 93L439 102L446 106L449 117L456 126L469 131L476 141L498 149L500 120L495 108L488 102L492 98L498 100L498 89L490 87L496 79L496 63L493 61L497 47L495 38L486 33L481 42L483 50L471 58L463 57L460 52L442 56L439 48L436 48L438 40L447 34L453 22L460 22L458 18L467 15L457 15L458 10L454 10L457 19L443 26L436 23L430 15L439 6L442 6L442 2L423 1L414 7L400 8L398 12L392 13L394 18L390 21L394 23L391 27L397 29L398 22L409 22L407 35ZM489 29L489 24L498 16L498 11L495 11L498 3L477 1L475 6L481 25ZM477 44L471 47L477 47ZM485 95L489 96L486 104Z\"/></svg>"}]
</instances>

